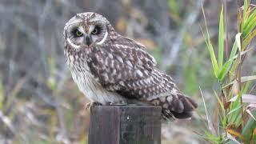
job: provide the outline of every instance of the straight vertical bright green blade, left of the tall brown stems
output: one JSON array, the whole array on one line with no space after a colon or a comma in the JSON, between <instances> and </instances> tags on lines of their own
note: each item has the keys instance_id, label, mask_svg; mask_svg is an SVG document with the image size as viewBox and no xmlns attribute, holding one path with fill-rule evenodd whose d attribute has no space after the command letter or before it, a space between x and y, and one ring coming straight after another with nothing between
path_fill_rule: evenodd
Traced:
<instances>
[{"instance_id":1,"label":"straight vertical bright green blade, left of the tall brown stems","mask_svg":"<svg viewBox=\"0 0 256 144\"><path fill-rule=\"evenodd\" d=\"M222 5L222 11L219 17L219 24L218 24L218 67L219 69L222 69L223 53L224 53L224 20L223 20L223 5Z\"/></svg>"}]
</instances>

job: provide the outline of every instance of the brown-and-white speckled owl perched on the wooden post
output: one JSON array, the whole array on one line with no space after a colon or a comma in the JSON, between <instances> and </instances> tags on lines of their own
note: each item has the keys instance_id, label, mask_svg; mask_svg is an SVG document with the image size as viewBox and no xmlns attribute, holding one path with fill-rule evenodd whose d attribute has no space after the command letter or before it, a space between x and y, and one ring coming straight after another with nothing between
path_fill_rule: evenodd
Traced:
<instances>
[{"instance_id":1,"label":"brown-and-white speckled owl perched on the wooden post","mask_svg":"<svg viewBox=\"0 0 256 144\"><path fill-rule=\"evenodd\" d=\"M76 14L64 28L66 62L91 102L154 105L163 118L190 118L197 104L156 68L145 46L115 32L100 14Z\"/></svg>"}]
</instances>

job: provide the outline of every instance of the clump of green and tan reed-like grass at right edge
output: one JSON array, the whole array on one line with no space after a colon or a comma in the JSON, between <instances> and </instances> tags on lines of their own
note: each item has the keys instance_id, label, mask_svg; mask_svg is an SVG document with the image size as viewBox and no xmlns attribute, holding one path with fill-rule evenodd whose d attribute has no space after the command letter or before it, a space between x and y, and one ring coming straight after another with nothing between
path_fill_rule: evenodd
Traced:
<instances>
[{"instance_id":1,"label":"clump of green and tan reed-like grass at right edge","mask_svg":"<svg viewBox=\"0 0 256 144\"><path fill-rule=\"evenodd\" d=\"M219 16L218 46L212 45L207 25L203 33L219 90L214 91L218 104L211 118L206 110L208 129L202 137L213 143L253 143L256 142L256 96L250 94L250 84L256 75L242 76L242 64L256 36L256 7L249 0L243 6L238 4L238 32L231 50L226 38L225 9L226 3ZM206 24L203 8L202 13ZM214 50L218 50L218 58Z\"/></svg>"}]
</instances>

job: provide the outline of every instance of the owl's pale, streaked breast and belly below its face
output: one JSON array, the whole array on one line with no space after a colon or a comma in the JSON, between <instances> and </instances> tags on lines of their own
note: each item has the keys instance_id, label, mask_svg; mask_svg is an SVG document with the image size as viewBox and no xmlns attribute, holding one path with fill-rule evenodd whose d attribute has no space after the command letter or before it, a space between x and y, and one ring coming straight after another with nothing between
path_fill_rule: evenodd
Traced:
<instances>
[{"instance_id":1,"label":"owl's pale, streaked breast and belly below its face","mask_svg":"<svg viewBox=\"0 0 256 144\"><path fill-rule=\"evenodd\" d=\"M82 60L78 61L74 56L69 56L69 58L66 59L66 62L74 82L78 85L79 90L81 90L90 101L100 102L103 105L108 102L116 104L126 103L126 98L102 87L97 78L94 78L94 75L91 74L87 62Z\"/></svg>"}]
</instances>

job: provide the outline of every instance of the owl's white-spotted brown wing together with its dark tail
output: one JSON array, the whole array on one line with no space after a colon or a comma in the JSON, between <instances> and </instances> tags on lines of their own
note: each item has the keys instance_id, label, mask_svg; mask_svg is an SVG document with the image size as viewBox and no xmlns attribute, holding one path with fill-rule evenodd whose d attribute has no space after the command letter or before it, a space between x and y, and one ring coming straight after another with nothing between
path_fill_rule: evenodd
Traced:
<instances>
[{"instance_id":1,"label":"owl's white-spotted brown wing together with its dark tail","mask_svg":"<svg viewBox=\"0 0 256 144\"><path fill-rule=\"evenodd\" d=\"M162 106L165 118L190 118L197 104L183 95L169 75L156 69L156 62L145 47L129 38L94 47L88 66L106 89Z\"/></svg>"}]
</instances>

